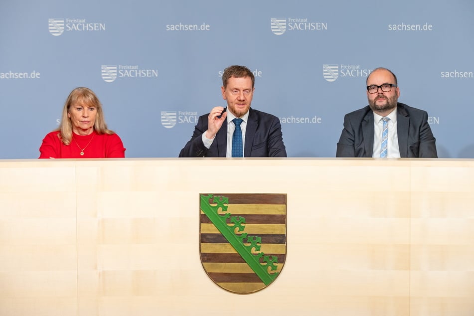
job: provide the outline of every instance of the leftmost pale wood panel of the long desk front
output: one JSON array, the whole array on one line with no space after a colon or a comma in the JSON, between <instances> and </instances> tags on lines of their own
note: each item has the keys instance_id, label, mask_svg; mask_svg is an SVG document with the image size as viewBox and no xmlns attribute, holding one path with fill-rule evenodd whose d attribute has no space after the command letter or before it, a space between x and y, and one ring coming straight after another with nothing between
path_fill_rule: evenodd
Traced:
<instances>
[{"instance_id":1,"label":"leftmost pale wood panel of the long desk front","mask_svg":"<svg viewBox=\"0 0 474 316\"><path fill-rule=\"evenodd\" d=\"M0 315L77 315L74 162L0 161Z\"/></svg>"}]
</instances>

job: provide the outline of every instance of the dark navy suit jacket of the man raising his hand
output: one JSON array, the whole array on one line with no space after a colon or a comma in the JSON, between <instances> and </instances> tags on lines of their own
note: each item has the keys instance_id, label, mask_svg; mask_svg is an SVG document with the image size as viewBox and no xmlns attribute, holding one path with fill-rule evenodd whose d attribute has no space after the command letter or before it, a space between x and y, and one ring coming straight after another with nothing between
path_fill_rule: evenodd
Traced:
<instances>
[{"instance_id":1,"label":"dark navy suit jacket of the man raising his hand","mask_svg":"<svg viewBox=\"0 0 474 316\"><path fill-rule=\"evenodd\" d=\"M226 157L227 119L209 149L202 143L201 136L207 131L208 116L205 114L199 117L191 140L181 150L179 157ZM244 146L244 157L287 157L280 120L271 114L249 109Z\"/></svg>"}]
</instances>

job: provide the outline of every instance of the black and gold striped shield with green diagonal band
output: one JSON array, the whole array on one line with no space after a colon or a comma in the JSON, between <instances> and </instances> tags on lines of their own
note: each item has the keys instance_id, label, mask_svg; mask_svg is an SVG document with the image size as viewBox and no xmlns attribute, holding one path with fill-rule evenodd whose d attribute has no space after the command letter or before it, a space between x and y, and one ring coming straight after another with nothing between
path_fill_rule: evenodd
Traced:
<instances>
[{"instance_id":1,"label":"black and gold striped shield with green diagonal band","mask_svg":"<svg viewBox=\"0 0 474 316\"><path fill-rule=\"evenodd\" d=\"M200 255L209 278L239 294L270 285L286 259L286 194L200 197Z\"/></svg>"}]
</instances>

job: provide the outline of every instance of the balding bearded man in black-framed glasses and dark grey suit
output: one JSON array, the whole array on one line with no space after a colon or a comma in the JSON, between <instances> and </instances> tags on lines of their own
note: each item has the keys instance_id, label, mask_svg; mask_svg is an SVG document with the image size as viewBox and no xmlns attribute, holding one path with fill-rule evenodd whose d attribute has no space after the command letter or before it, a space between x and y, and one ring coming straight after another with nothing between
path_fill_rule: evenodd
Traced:
<instances>
[{"instance_id":1,"label":"balding bearded man in black-framed glasses and dark grey suit","mask_svg":"<svg viewBox=\"0 0 474 316\"><path fill-rule=\"evenodd\" d=\"M366 83L369 105L344 116L336 157L438 158L428 113L398 103L393 72L376 68Z\"/></svg>"}]
</instances>

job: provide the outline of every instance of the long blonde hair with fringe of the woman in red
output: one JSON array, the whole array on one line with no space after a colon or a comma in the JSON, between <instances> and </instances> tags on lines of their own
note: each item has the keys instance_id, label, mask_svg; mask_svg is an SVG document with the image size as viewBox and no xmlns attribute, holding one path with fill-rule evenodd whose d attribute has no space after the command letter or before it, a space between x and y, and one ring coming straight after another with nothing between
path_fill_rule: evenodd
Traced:
<instances>
[{"instance_id":1,"label":"long blonde hair with fringe of the woman in red","mask_svg":"<svg viewBox=\"0 0 474 316\"><path fill-rule=\"evenodd\" d=\"M97 134L115 134L114 131L107 129L107 124L104 120L104 113L102 111L102 104L97 98L96 94L89 88L78 87L71 91L64 103L62 110L61 123L57 131L58 137L64 145L71 144L72 140L72 123L68 117L71 106L83 105L85 107L94 107L97 110L96 120L94 122L94 131Z\"/></svg>"}]
</instances>

